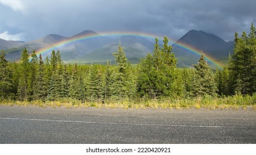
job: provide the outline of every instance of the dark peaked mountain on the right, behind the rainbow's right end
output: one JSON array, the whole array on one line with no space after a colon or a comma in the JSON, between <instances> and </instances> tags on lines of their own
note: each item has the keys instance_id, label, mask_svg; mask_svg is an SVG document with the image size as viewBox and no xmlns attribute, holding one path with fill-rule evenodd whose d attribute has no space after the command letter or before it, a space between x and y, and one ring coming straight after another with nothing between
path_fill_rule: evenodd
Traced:
<instances>
[{"instance_id":1,"label":"dark peaked mountain on the right, behind the rainbow's right end","mask_svg":"<svg viewBox=\"0 0 256 155\"><path fill-rule=\"evenodd\" d=\"M214 58L216 61L226 63L229 52L232 53L234 42L225 42L217 35L203 32L202 30L190 30L183 37L177 40L173 46L173 52L178 59L178 65L191 66L197 64L199 55L192 53L181 47L193 47L197 51L203 51L206 56Z\"/></svg>"}]
</instances>

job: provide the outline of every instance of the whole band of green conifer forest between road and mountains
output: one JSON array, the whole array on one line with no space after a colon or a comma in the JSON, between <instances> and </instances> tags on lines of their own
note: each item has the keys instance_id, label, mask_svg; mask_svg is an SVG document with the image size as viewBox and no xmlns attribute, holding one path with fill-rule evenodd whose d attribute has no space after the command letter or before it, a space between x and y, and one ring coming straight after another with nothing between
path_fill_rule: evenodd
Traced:
<instances>
[{"instance_id":1,"label":"whole band of green conifer forest between road and mountains","mask_svg":"<svg viewBox=\"0 0 256 155\"><path fill-rule=\"evenodd\" d=\"M153 54L133 66L121 43L116 64L77 65L63 63L60 51L43 59L35 51L22 51L19 63L0 55L1 104L68 103L70 105L121 107L231 107L256 109L256 30L234 36L233 54L223 69L212 69L204 54L191 68L177 68L177 59L168 45L155 40Z\"/></svg>"}]
</instances>

